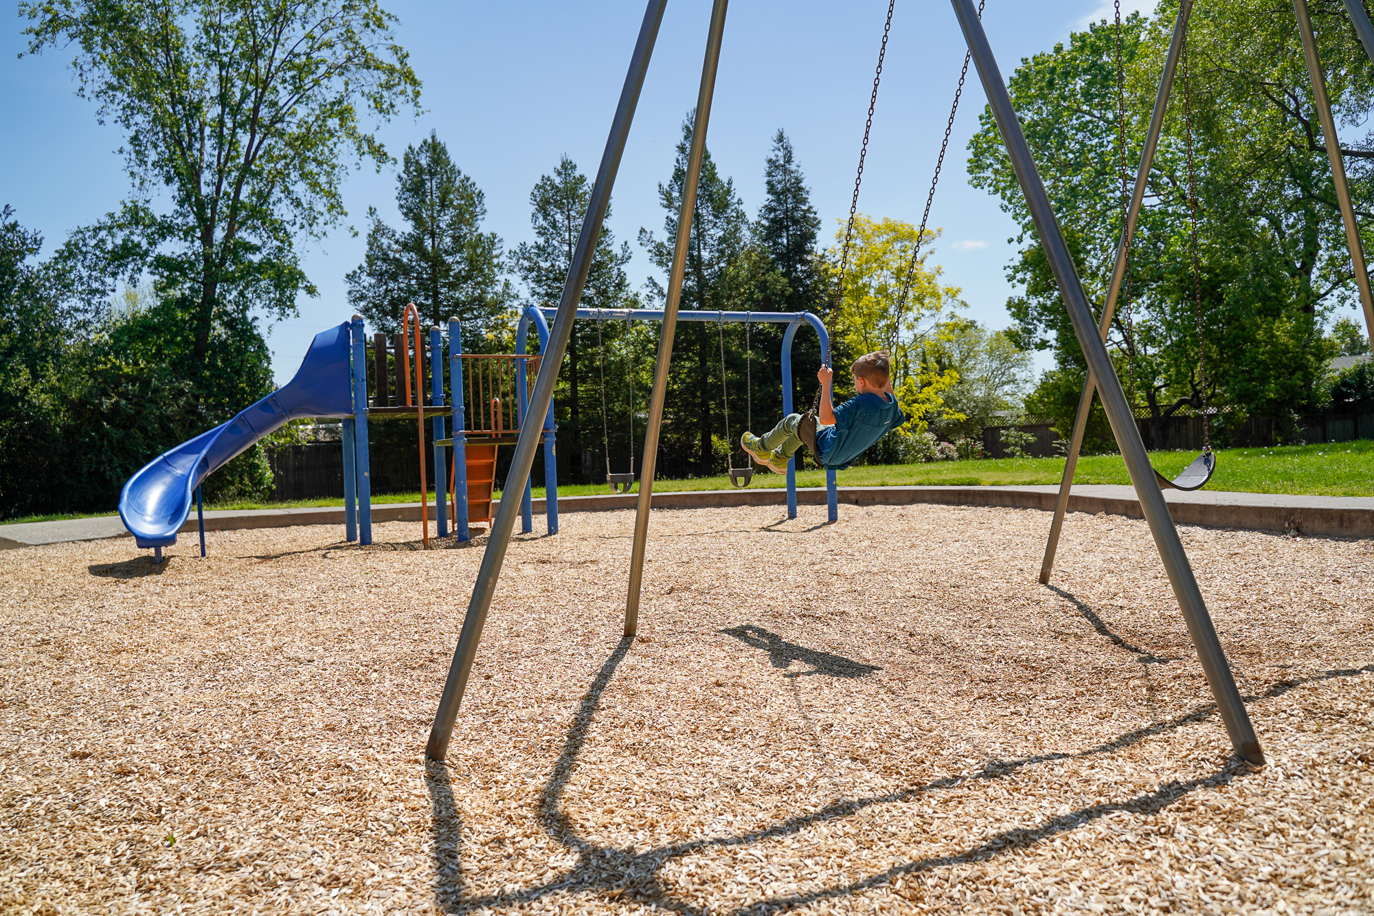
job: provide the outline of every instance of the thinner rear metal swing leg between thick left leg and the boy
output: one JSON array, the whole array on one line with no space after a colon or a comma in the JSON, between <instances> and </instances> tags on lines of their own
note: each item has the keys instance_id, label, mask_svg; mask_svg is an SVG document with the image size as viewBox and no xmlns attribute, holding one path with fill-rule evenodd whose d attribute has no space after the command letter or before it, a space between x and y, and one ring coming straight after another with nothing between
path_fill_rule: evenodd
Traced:
<instances>
[{"instance_id":1,"label":"thinner rear metal swing leg between thick left leg and the boy","mask_svg":"<svg viewBox=\"0 0 1374 916\"><path fill-rule=\"evenodd\" d=\"M691 217L697 206L697 182L701 179L701 160L706 150L706 125L710 121L710 100L716 92L716 67L720 63L720 40L725 30L728 6L730 0L714 0L710 8L706 59L701 65L701 88L697 91L697 110L692 114L691 147L687 151L687 173L683 176L683 199L677 213L677 241L673 246L673 264L668 272L664 329L658 336L658 362L654 364L654 389L649 397L649 422L644 429L644 458L639 475L639 501L635 505L635 545L629 554L629 589L625 594L625 635L635 635L639 630L639 593L649 542L649 509L654 499L658 432L664 422L668 367L673 359L673 334L677 331L677 304L683 292L683 274L687 270L687 243L691 241Z\"/></svg>"}]
</instances>

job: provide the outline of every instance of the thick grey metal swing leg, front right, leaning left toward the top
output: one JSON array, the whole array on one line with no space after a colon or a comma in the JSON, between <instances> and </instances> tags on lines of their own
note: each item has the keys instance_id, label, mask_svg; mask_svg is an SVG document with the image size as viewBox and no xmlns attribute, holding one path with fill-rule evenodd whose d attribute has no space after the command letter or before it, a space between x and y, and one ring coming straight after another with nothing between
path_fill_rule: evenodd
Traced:
<instances>
[{"instance_id":1,"label":"thick grey metal swing leg, front right, leaning left toward the top","mask_svg":"<svg viewBox=\"0 0 1374 916\"><path fill-rule=\"evenodd\" d=\"M1140 429L1135 425L1135 418L1131 417L1125 392L1121 391L1121 380L1112 369L1112 358L1107 356L1106 345L1096 336L1092 309L1088 308L1088 298L1083 293L1083 283L1073 265L1073 256L1069 253L1063 232L1054 216L1054 209L1050 206L1050 197L1046 194L1035 160L1030 157L1030 147L1026 146L1025 135L1021 132L1021 122L1011 106L1007 87L1002 81L1002 73L992 55L992 47L988 44L988 36L982 30L982 23L978 22L978 12L973 0L951 0L951 3L959 17L969 51L978 66L978 77L988 95L988 106L998 121L1002 142L1006 144L1021 191L1025 194L1040 245L1044 248L1050 268L1054 271L1059 294L1063 297L1069 319L1073 322L1073 331L1083 348L1088 370L1101 380L1102 406L1106 407L1107 419L1112 421L1112 432L1121 446L1121 457L1125 458L1131 483L1135 484L1136 498L1140 501L1140 509L1150 525L1150 534L1154 535L1156 547L1160 550L1169 585L1173 586L1173 594L1183 611L1189 635L1193 637L1193 645L1197 646L1198 659L1202 662L1202 670L1206 674L1208 686L1212 688L1221 721L1226 722L1231 745L1242 759L1257 765L1264 763L1264 752L1260 750L1254 726L1250 725L1250 717L1241 701L1241 692L1235 688L1231 667L1221 651L1216 629L1212 626L1206 602L1202 601L1202 593L1193 576L1193 567L1189 564L1187 553L1179 541L1179 531L1173 527L1169 506L1164 502L1160 484L1154 480L1154 469L1145 451Z\"/></svg>"}]
</instances>

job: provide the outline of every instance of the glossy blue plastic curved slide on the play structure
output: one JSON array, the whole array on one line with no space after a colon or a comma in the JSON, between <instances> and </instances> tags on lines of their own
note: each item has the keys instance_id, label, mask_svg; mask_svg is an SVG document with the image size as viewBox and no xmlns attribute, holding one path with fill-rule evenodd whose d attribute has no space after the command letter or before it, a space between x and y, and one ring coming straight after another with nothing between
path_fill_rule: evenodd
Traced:
<instances>
[{"instance_id":1,"label":"glossy blue plastic curved slide on the play structure","mask_svg":"<svg viewBox=\"0 0 1374 916\"><path fill-rule=\"evenodd\" d=\"M169 547L185 524L195 488L262 436L300 417L349 417L349 326L315 336L301 369L280 391L229 422L150 461L120 494L120 519L140 547Z\"/></svg>"}]
</instances>

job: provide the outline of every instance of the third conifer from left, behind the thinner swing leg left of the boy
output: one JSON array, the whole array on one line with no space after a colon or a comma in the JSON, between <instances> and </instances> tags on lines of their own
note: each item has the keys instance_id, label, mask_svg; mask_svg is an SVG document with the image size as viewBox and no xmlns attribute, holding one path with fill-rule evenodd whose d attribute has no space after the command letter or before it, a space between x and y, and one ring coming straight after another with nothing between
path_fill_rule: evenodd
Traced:
<instances>
[{"instance_id":1,"label":"third conifer from left, behind the thinner swing leg left of the boy","mask_svg":"<svg viewBox=\"0 0 1374 916\"><path fill-rule=\"evenodd\" d=\"M687 180L687 151L691 146L692 114L683 122L677 143L677 158L672 177L658 186L658 198L666 210L664 238L658 239L647 228L639 230L639 243L650 260L662 271L672 265L673 239L677 234L677 210ZM701 164L697 205L692 210L691 237L683 278L682 308L684 311L728 309L746 293L750 283L741 267L749 248L749 217L735 191L732 179L721 177L710 151ZM664 297L664 286L649 281L650 294ZM672 417L665 421L665 452L691 455L687 468L695 475L709 475L716 468L717 450L712 440L724 432L720 410L720 342L713 326L688 322L679 325L673 345L675 373L669 378ZM738 347L736 331L727 345L727 375L743 374L743 352ZM728 384L728 382L727 382ZM738 433L735 433L738 436Z\"/></svg>"}]
</instances>

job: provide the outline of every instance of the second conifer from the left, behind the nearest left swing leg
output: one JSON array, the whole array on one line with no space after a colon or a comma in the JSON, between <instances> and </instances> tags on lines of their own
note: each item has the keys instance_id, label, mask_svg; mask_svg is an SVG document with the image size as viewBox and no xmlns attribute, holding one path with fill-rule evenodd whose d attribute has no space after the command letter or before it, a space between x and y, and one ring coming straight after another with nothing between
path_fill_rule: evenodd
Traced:
<instances>
[{"instance_id":1,"label":"second conifer from the left, behind the nearest left swing leg","mask_svg":"<svg viewBox=\"0 0 1374 916\"><path fill-rule=\"evenodd\" d=\"M573 263L573 252L583 231L583 220L587 216L591 195L592 183L577 171L577 164L566 155L559 160L554 173L541 176L529 193L529 202L533 208L529 219L534 227L534 242L521 242L511 253L513 267L525 285L529 304L555 308L562 298L563 283ZM610 217L610 208L606 209L606 216ZM583 287L583 308L622 308L625 305L625 297L629 293L625 264L629 263L629 245L624 243L617 250L614 234L606 223L602 223L591 271L587 275L587 285ZM624 329L616 327L613 330L607 326L602 331L610 340L620 337ZM583 363L588 353L598 353L596 327L591 322L574 323L573 336L567 344L567 370L559 377L559 381L567 386L566 395L561 393L558 397L559 407L566 404L567 410L567 429L559 432L559 443L566 443L566 451L573 455L583 455L584 450L595 441L595 429L583 429L584 395L595 396L592 410L600 410L599 391L583 391ZM599 367L594 367L592 371L596 369Z\"/></svg>"}]
</instances>

